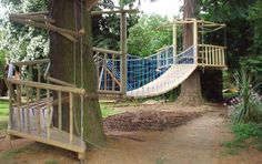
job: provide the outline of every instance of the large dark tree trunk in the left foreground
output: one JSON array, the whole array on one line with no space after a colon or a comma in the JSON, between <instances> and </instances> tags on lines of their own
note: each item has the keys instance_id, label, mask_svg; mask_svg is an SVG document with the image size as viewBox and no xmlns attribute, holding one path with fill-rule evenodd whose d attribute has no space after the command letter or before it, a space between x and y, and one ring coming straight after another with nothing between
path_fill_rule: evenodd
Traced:
<instances>
[{"instance_id":1,"label":"large dark tree trunk in the left foreground","mask_svg":"<svg viewBox=\"0 0 262 164\"><path fill-rule=\"evenodd\" d=\"M81 9L81 1L78 0L52 0L50 2L51 17L56 20L57 27L73 31L83 29L85 32L82 38L81 51L80 40L74 45L72 41L50 31L50 74L56 79L85 89L87 95L98 95L92 52L91 11L87 12L85 0L83 3ZM81 101L80 98L74 98L74 101L75 121L80 131ZM58 120L56 116L58 116L57 113L54 113L54 121ZM69 110L64 105L62 109L62 127L66 131L69 130ZM83 139L92 145L104 144L105 137L98 96L83 96Z\"/></svg>"}]
</instances>

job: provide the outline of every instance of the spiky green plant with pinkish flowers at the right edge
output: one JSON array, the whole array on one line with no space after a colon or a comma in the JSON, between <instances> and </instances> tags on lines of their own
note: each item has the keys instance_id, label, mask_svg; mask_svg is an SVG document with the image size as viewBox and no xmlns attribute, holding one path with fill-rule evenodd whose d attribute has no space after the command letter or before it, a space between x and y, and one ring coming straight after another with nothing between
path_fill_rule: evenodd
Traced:
<instances>
[{"instance_id":1,"label":"spiky green plant with pinkish flowers at the right edge","mask_svg":"<svg viewBox=\"0 0 262 164\"><path fill-rule=\"evenodd\" d=\"M261 82L250 72L242 69L234 74L235 86L239 89L239 98L233 102L232 120L239 122L262 121L262 102L256 93Z\"/></svg>"}]
</instances>

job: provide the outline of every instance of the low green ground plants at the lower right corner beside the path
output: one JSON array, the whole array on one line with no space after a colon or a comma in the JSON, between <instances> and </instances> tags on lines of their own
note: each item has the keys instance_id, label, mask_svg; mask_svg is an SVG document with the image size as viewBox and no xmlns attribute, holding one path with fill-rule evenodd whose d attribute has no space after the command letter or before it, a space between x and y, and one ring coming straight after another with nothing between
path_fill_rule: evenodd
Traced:
<instances>
[{"instance_id":1,"label":"low green ground plants at the lower right corner beside the path","mask_svg":"<svg viewBox=\"0 0 262 164\"><path fill-rule=\"evenodd\" d=\"M225 142L222 145L228 147L226 154L235 155L241 150L246 150L250 146L262 151L262 125L256 123L238 123L232 125L234 133L233 141Z\"/></svg>"}]
</instances>

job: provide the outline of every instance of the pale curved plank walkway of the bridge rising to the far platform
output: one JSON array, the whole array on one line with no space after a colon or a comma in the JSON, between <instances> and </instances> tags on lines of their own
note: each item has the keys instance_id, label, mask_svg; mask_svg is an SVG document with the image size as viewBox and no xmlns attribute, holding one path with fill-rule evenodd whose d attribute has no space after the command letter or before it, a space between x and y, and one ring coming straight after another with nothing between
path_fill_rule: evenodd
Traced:
<instances>
[{"instance_id":1,"label":"pale curved plank walkway of the bridge rising to the far platform","mask_svg":"<svg viewBox=\"0 0 262 164\"><path fill-rule=\"evenodd\" d=\"M154 81L132 91L129 98L150 98L164 94L178 88L196 69L196 64L175 64Z\"/></svg>"}]
</instances>

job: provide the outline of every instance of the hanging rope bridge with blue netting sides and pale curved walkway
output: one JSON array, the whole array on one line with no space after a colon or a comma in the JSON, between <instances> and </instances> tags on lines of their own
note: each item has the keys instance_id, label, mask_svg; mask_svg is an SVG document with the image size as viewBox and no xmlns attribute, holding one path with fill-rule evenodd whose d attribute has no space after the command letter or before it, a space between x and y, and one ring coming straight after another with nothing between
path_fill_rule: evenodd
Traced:
<instances>
[{"instance_id":1,"label":"hanging rope bridge with blue netting sides and pale curved walkway","mask_svg":"<svg viewBox=\"0 0 262 164\"><path fill-rule=\"evenodd\" d=\"M196 68L195 48L192 45L178 55L173 55L173 45L161 49L147 58L128 55L127 95L148 98L163 94L177 88ZM120 91L121 58L102 53L95 55L99 71L99 90Z\"/></svg>"}]
</instances>

